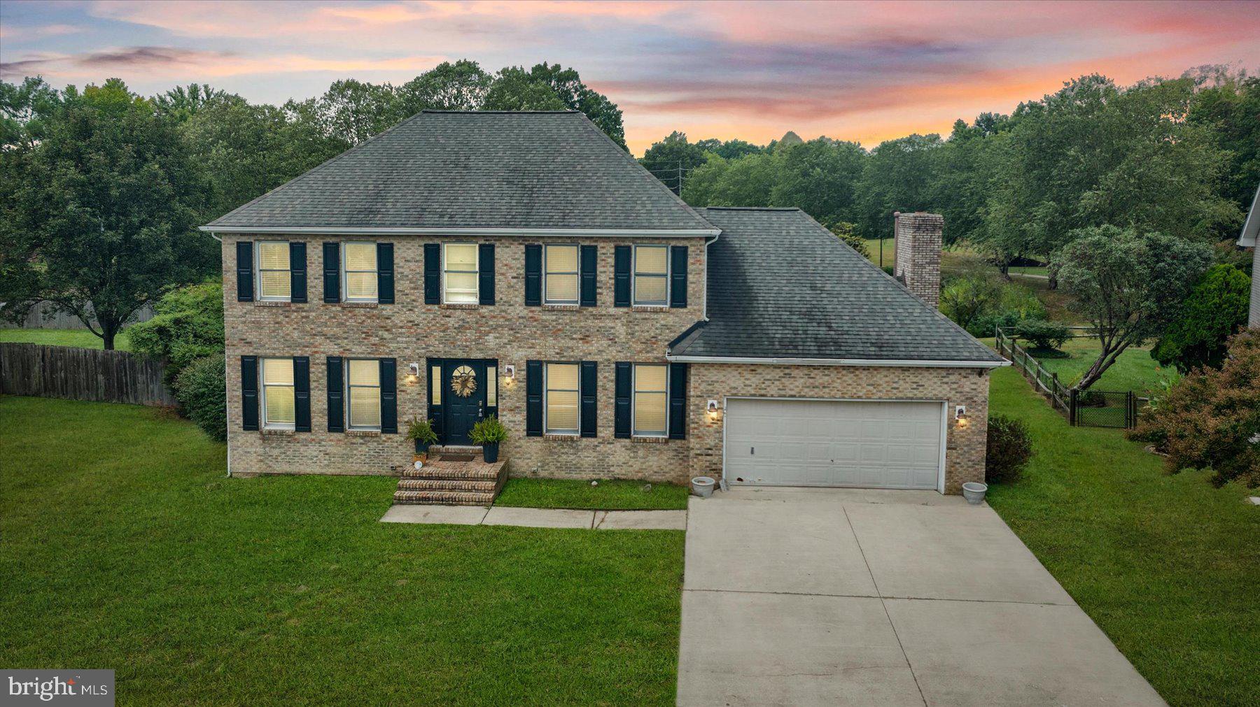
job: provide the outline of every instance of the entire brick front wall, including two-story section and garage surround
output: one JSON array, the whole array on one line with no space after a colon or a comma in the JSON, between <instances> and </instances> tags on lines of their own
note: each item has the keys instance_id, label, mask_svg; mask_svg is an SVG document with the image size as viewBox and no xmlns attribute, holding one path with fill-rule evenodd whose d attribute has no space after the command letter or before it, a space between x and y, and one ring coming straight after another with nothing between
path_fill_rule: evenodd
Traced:
<instances>
[{"instance_id":1,"label":"entire brick front wall, including two-story section and garage surround","mask_svg":"<svg viewBox=\"0 0 1260 707\"><path fill-rule=\"evenodd\" d=\"M902 216L905 218L905 216ZM307 244L309 303L238 302L238 240L304 240ZM460 308L423 303L423 244L489 239L392 237L394 304L323 302L321 243L331 237L223 238L227 337L228 444L234 474L388 474L410 460L406 423L427 414L425 361L494 359L499 362L499 416L510 438L501 458L514 477L638 478L682 483L722 469L722 416L712 420L707 400L726 396L948 400L968 406L971 425L949 424L946 492L983 481L988 375L975 369L769 366L693 364L688 377L687 439L614 438L616 361L665 362L667 345L702 318L704 242L694 239L495 238L495 304ZM525 307L524 245L598 245L596 307ZM685 308L614 307L614 247L662 243L689 247ZM939 243L939 242L937 242ZM900 247L898 247L900 252ZM900 255L898 255L900 257ZM310 356L311 431L241 429L241 356ZM329 433L325 356L394 357L398 361L399 434ZM597 437L525 437L525 361L597 361ZM407 365L420 362L420 382L407 382ZM504 366L515 366L509 385Z\"/></svg>"}]
</instances>

